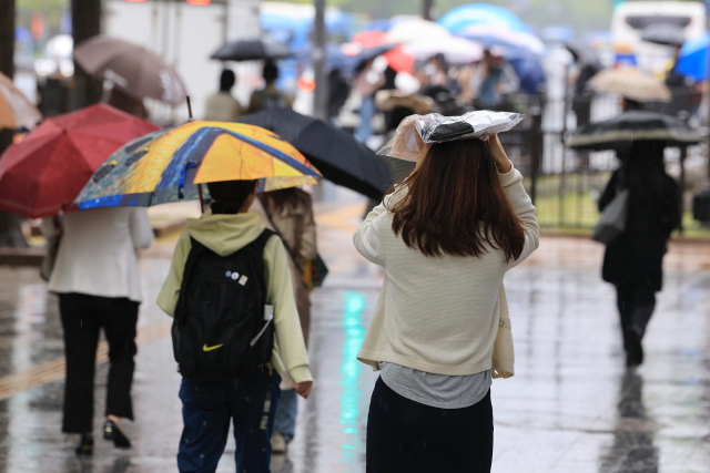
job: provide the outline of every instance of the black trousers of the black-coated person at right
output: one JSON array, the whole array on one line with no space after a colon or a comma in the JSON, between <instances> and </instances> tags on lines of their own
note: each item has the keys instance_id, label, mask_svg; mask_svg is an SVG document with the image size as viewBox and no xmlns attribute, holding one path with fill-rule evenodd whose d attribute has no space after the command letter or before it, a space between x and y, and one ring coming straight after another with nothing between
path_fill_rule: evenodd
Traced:
<instances>
[{"instance_id":1,"label":"black trousers of the black-coated person at right","mask_svg":"<svg viewBox=\"0 0 710 473\"><path fill-rule=\"evenodd\" d=\"M646 327L656 309L656 291L647 285L617 284L617 307L621 320L623 348L629 351L631 336L643 338Z\"/></svg>"}]
</instances>

